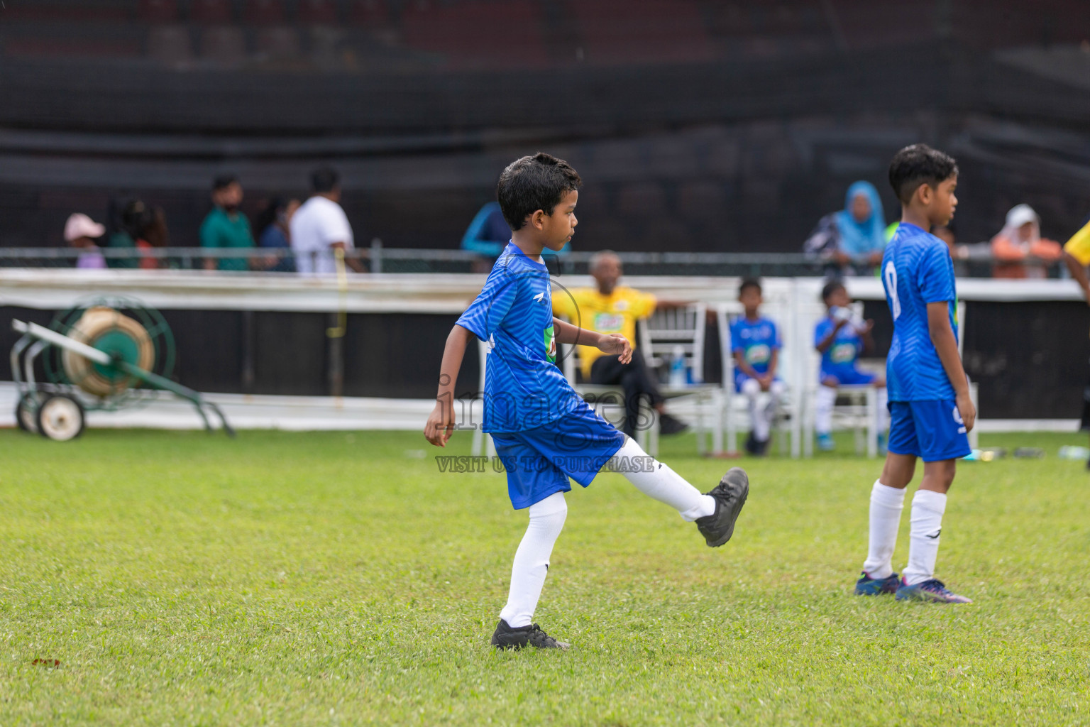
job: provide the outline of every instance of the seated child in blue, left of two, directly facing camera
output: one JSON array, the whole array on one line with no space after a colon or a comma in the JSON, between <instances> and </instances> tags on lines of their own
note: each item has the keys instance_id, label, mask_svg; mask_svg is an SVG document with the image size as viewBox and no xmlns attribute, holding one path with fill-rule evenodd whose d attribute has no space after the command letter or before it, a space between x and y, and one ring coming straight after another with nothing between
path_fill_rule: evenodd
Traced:
<instances>
[{"instance_id":1,"label":"seated child in blue, left of two, directly facing camera","mask_svg":"<svg viewBox=\"0 0 1090 727\"><path fill-rule=\"evenodd\" d=\"M730 351L735 356L735 390L749 401L750 435L746 451L764 455L768 449L772 420L787 386L776 376L779 364L779 330L771 318L761 316L761 282L746 278L738 288L738 302L746 313L730 324ZM768 392L764 408L758 407L762 391Z\"/></svg>"}]
</instances>

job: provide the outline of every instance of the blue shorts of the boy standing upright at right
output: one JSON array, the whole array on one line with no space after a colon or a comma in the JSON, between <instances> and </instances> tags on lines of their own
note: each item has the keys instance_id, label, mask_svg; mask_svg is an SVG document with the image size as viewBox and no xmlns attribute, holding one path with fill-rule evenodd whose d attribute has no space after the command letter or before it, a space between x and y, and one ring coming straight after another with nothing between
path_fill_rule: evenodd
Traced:
<instances>
[{"instance_id":1,"label":"blue shorts of the boy standing upright at right","mask_svg":"<svg viewBox=\"0 0 1090 727\"><path fill-rule=\"evenodd\" d=\"M961 413L948 399L891 401L888 449L924 462L960 459L971 451Z\"/></svg>"}]
</instances>

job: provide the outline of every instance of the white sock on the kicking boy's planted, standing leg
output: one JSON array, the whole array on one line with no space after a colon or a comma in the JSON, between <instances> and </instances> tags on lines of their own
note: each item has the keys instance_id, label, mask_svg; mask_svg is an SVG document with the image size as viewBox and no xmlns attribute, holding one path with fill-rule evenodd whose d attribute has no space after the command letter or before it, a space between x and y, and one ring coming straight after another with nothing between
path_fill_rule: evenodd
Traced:
<instances>
[{"instance_id":1,"label":"white sock on the kicking boy's planted, standing leg","mask_svg":"<svg viewBox=\"0 0 1090 727\"><path fill-rule=\"evenodd\" d=\"M541 502L530 506L530 525L514 553L511 566L511 587L507 594L507 605L499 617L512 628L530 626L534 609L541 598L545 577L548 574L548 559L553 545L560 535L564 521L568 517L568 504L564 493L549 495Z\"/></svg>"}]
</instances>

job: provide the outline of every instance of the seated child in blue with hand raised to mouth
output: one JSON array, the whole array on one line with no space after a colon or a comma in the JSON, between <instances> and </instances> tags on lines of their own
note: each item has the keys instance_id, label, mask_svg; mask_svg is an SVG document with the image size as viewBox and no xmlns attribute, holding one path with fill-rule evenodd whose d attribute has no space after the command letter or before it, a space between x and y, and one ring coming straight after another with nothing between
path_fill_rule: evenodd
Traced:
<instances>
[{"instance_id":1,"label":"seated child in blue with hand raised to mouth","mask_svg":"<svg viewBox=\"0 0 1090 727\"><path fill-rule=\"evenodd\" d=\"M879 390L879 449L885 450L886 390L885 378L877 374L860 371L856 365L859 354L874 350L871 329L873 320L862 320L851 313L851 299L844 284L829 282L821 291L828 315L814 328L814 348L821 353L821 372L814 413L814 431L818 433L818 448L832 451L833 407L836 404L836 389L840 386L865 385Z\"/></svg>"}]
</instances>

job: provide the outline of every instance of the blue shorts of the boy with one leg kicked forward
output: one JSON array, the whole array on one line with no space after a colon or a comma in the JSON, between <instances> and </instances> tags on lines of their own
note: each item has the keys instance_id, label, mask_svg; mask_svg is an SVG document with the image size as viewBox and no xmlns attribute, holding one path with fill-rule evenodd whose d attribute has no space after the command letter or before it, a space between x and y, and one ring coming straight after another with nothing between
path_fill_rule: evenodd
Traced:
<instances>
[{"instance_id":1,"label":"blue shorts of the boy with one leg kicked forward","mask_svg":"<svg viewBox=\"0 0 1090 727\"><path fill-rule=\"evenodd\" d=\"M625 435L585 401L564 416L534 429L492 434L507 471L507 494L516 510L554 493L571 490L568 477L583 487L625 446Z\"/></svg>"}]
</instances>

